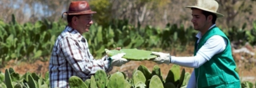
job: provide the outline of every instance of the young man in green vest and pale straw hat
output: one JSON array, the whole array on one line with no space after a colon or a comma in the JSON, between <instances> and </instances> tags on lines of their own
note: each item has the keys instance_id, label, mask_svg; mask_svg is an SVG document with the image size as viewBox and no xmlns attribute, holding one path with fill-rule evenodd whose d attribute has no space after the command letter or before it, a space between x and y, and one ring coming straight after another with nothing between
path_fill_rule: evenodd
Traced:
<instances>
[{"instance_id":1,"label":"young man in green vest and pale straw hat","mask_svg":"<svg viewBox=\"0 0 256 88\"><path fill-rule=\"evenodd\" d=\"M186 6L192 10L194 29L199 31L193 57L152 52L159 56L153 60L158 64L173 63L194 68L187 88L240 88L230 41L215 24L217 18L224 16L216 12L218 6L214 0L197 0L195 6Z\"/></svg>"}]
</instances>

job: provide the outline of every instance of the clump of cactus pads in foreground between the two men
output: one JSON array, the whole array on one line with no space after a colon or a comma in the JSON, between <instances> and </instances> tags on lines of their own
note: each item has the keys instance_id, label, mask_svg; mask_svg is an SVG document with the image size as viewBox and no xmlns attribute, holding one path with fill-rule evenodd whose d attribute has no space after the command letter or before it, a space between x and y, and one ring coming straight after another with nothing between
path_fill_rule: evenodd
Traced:
<instances>
[{"instance_id":1,"label":"clump of cactus pads in foreground between the two men","mask_svg":"<svg viewBox=\"0 0 256 88\"><path fill-rule=\"evenodd\" d=\"M179 68L179 66L173 66L172 68ZM185 85L183 84L184 79L189 79L187 76L185 77L185 70L182 70L181 76L167 76L166 79L175 80L178 79L175 82L168 82L165 81L162 77L161 69L159 66L155 65L152 73L143 65L139 66L138 69L134 71L131 78L125 79L125 74L122 74L122 72L116 72L114 74L104 76L105 78L101 77L101 79L107 79L104 80L105 82L102 82L103 85L105 85L103 88L166 88L165 86L169 85L173 86L173 88L180 88ZM172 73L179 73L180 69L176 70L170 70ZM102 70L98 70L95 73L96 75L99 75L99 73L103 74ZM150 75L150 78L146 78L146 75ZM148 77L148 76L147 76ZM76 77L76 80L80 78ZM94 79L94 76L91 76L91 79L85 80L85 84L89 87L92 87L91 85L94 85L92 88L102 88L100 85L102 84L95 84L92 83ZM97 81L97 80L96 80ZM75 82L72 82L75 83ZM74 84L77 85L77 84ZM97 86L97 87L96 87ZM71 87L72 88L72 87ZM75 87L73 87L75 88Z\"/></svg>"}]
</instances>

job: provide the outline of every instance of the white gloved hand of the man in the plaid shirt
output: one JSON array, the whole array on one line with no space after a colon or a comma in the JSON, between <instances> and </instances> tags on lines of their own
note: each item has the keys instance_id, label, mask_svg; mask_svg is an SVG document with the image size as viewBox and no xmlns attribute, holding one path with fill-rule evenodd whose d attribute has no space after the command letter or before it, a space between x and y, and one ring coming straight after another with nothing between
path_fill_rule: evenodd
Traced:
<instances>
[{"instance_id":1,"label":"white gloved hand of the man in the plaid shirt","mask_svg":"<svg viewBox=\"0 0 256 88\"><path fill-rule=\"evenodd\" d=\"M125 53L119 53L117 55L111 56L110 59L110 67L113 66L122 66L125 63L128 63L130 60L127 60L125 58L122 58L125 55Z\"/></svg>"}]
</instances>

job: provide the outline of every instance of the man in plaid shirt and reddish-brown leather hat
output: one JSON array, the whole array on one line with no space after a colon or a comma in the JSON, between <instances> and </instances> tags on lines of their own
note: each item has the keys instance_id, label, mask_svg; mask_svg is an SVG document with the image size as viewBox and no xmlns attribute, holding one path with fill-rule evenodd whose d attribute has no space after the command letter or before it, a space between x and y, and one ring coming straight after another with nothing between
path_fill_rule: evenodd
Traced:
<instances>
[{"instance_id":1,"label":"man in plaid shirt and reddish-brown leather hat","mask_svg":"<svg viewBox=\"0 0 256 88\"><path fill-rule=\"evenodd\" d=\"M85 81L100 69L109 72L113 66L129 62L122 58L125 53L104 56L99 60L93 58L82 34L89 31L93 23L92 14L95 13L91 11L87 1L71 2L68 12L63 13L67 15L68 25L58 36L52 50L49 65L51 88L69 88L68 79L71 76L78 76Z\"/></svg>"}]
</instances>

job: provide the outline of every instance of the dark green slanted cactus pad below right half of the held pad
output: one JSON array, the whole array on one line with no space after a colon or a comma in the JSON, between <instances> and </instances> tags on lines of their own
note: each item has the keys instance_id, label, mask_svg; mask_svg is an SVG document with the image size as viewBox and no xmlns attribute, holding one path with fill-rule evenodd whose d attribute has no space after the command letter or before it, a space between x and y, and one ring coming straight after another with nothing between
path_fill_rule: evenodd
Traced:
<instances>
[{"instance_id":1,"label":"dark green slanted cactus pad below right half of the held pad","mask_svg":"<svg viewBox=\"0 0 256 88\"><path fill-rule=\"evenodd\" d=\"M151 79L152 74L151 74L151 72L147 69L147 67L145 67L145 66L143 66L143 65L140 65L137 70L141 71L141 72L144 74L146 80Z\"/></svg>"}]
</instances>

